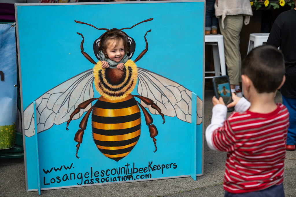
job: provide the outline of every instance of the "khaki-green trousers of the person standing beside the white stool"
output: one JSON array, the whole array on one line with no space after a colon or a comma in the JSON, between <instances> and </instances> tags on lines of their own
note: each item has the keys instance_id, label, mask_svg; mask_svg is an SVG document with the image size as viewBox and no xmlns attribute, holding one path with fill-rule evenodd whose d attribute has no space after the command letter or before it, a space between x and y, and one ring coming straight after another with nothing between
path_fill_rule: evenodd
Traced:
<instances>
[{"instance_id":1,"label":"khaki-green trousers of the person standing beside the white stool","mask_svg":"<svg viewBox=\"0 0 296 197\"><path fill-rule=\"evenodd\" d=\"M231 89L239 85L239 76L241 69L241 55L239 52L239 34L242 30L243 16L226 16L224 19L224 29L221 26L221 17L219 18L219 27L224 37L225 63L229 76Z\"/></svg>"}]
</instances>

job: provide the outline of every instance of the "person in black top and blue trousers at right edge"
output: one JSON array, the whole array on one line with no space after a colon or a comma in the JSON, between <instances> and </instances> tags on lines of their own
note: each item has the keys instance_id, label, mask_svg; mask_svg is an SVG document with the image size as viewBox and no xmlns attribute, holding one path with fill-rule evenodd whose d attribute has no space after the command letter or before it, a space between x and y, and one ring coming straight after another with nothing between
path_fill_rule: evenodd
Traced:
<instances>
[{"instance_id":1,"label":"person in black top and blue trousers at right edge","mask_svg":"<svg viewBox=\"0 0 296 197\"><path fill-rule=\"evenodd\" d=\"M296 1L295 1L296 6ZM286 150L296 144L296 8L282 12L271 28L267 45L279 47L284 54L286 82L281 87L283 104L290 113Z\"/></svg>"}]
</instances>

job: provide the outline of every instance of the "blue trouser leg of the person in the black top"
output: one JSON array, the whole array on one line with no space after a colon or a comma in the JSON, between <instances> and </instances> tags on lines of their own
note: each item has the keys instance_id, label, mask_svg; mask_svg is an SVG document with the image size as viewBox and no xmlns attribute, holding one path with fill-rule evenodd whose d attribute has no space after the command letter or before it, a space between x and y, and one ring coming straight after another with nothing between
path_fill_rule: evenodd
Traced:
<instances>
[{"instance_id":1,"label":"blue trouser leg of the person in the black top","mask_svg":"<svg viewBox=\"0 0 296 197\"><path fill-rule=\"evenodd\" d=\"M288 98L282 95L283 104L287 107L289 111L289 128L287 136L287 145L296 144L296 99ZM293 148L295 149L295 147Z\"/></svg>"}]
</instances>

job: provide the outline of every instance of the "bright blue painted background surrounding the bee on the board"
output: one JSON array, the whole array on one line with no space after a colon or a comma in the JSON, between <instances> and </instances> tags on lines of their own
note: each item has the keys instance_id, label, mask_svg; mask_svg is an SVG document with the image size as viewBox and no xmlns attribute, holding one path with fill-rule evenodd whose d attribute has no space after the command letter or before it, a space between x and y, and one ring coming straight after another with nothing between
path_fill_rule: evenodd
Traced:
<instances>
[{"instance_id":1,"label":"bright blue painted background surrounding the bee on the board","mask_svg":"<svg viewBox=\"0 0 296 197\"><path fill-rule=\"evenodd\" d=\"M146 36L148 52L137 62L137 66L165 76L203 98L203 12L204 2L18 6L23 108L49 89L93 68L94 65L81 54L82 38L76 32L82 33L85 38L84 51L97 61L93 43L105 31L75 23L74 20L97 28L120 29L154 18L130 30L123 30L136 42L132 60L144 50L144 35L152 29ZM137 94L136 88L133 94ZM96 91L95 97L99 97ZM141 114L141 117L143 122L144 115ZM41 188L81 185L81 179L83 185L87 181L92 183L91 178L97 183L95 171L99 172L99 183L102 183L102 178L106 178L106 175L101 176L102 170L106 172L107 169L125 165L133 168L133 163L143 170L151 162L152 168L154 165L172 164L163 173L162 170L152 171L149 168L150 172L134 174L134 179L137 179L136 175L149 173L151 178L190 175L190 123L165 116L165 124L162 124L160 115L152 115L152 118L158 129L157 152L153 153L155 146L148 127L142 124L138 143L131 153L118 162L105 157L96 148L91 134L91 118L79 148L80 159L75 157L77 142L74 135L81 118L71 121L69 131L66 131L66 123L63 123L38 133ZM37 188L34 145L34 137L25 137L29 190ZM174 163L177 166L175 169ZM71 164L71 169L66 170L65 167ZM56 169L56 172L52 169L44 173L52 167L61 166L62 170ZM67 176L70 179L70 173L75 173L75 180L63 181ZM197 126L197 174L201 173L202 124ZM80 175L83 178L80 179ZM59 179L61 181L57 183Z\"/></svg>"}]
</instances>

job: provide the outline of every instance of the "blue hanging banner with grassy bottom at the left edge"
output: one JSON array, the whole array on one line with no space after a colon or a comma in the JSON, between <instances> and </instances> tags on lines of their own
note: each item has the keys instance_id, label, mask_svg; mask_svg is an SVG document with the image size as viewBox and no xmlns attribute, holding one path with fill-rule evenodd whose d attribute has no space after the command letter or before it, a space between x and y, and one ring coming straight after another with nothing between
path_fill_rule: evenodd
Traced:
<instances>
[{"instance_id":1,"label":"blue hanging banner with grassy bottom at the left edge","mask_svg":"<svg viewBox=\"0 0 296 197\"><path fill-rule=\"evenodd\" d=\"M15 27L0 24L0 149L14 146L17 112Z\"/></svg>"}]
</instances>

